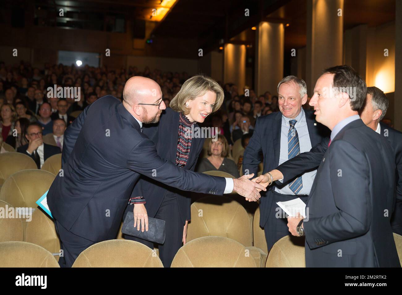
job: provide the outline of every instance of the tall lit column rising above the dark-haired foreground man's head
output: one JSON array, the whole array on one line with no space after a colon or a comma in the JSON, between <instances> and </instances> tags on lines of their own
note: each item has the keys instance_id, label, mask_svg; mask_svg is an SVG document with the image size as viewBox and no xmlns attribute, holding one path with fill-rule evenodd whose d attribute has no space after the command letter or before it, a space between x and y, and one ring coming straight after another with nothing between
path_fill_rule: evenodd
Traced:
<instances>
[{"instance_id":1,"label":"tall lit column rising above the dark-haired foreground man's head","mask_svg":"<svg viewBox=\"0 0 402 295\"><path fill-rule=\"evenodd\" d=\"M307 1L306 84L309 96L322 70L343 61L344 0ZM341 9L342 16L338 16Z\"/></svg>"}]
</instances>

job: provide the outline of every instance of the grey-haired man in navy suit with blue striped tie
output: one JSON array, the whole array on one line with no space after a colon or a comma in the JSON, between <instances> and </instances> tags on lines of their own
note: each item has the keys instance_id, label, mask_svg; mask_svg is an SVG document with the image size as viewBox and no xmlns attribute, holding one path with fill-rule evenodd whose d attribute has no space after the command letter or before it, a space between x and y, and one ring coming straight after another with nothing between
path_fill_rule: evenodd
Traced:
<instances>
[{"instance_id":1,"label":"grey-haired man in navy suit with blue striped tie","mask_svg":"<svg viewBox=\"0 0 402 295\"><path fill-rule=\"evenodd\" d=\"M328 134L328 129L315 120L314 113L303 110L307 101L306 83L295 76L283 78L277 87L280 112L260 116L254 134L244 151L243 173L257 173L263 156L264 173L311 147ZM285 213L276 204L300 198L307 201L316 170L298 175L286 183L274 183L261 192L260 226L265 230L268 250L277 240L289 235ZM280 183L280 182L279 182Z\"/></svg>"}]
</instances>

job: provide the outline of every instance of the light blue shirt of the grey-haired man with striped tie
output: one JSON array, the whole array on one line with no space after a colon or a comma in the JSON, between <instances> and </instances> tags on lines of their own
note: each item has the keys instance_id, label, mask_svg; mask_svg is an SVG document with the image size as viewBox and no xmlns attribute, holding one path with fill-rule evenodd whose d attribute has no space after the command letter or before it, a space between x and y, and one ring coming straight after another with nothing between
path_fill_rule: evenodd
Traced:
<instances>
[{"instance_id":1,"label":"light blue shirt of the grey-haired man with striped tie","mask_svg":"<svg viewBox=\"0 0 402 295\"><path fill-rule=\"evenodd\" d=\"M312 148L310 141L310 134L308 133L308 127L306 122L306 114L304 113L303 108L301 109L300 114L297 115L294 119L286 118L282 115L282 125L281 125L281 151L279 154L279 163L281 165L283 162L289 160L288 158L288 143L287 143L287 133L289 132L290 120L296 120L295 129L297 130L297 135L299 136L299 146L300 153L309 152ZM308 195L310 194L311 187L314 182L314 178L316 177L317 170L306 172L301 175L301 180L303 181L303 187L299 191L298 195ZM293 191L289 188L289 183L282 187L275 187L275 191L277 193L285 194L285 195L295 195Z\"/></svg>"}]
</instances>

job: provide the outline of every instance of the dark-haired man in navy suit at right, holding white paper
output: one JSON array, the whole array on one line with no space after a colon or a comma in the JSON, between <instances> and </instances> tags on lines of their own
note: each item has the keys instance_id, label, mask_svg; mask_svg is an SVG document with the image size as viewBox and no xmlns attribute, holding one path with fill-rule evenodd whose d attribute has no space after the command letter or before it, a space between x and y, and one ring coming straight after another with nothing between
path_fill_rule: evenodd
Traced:
<instances>
[{"instance_id":1,"label":"dark-haired man in navy suit at right, holding white paper","mask_svg":"<svg viewBox=\"0 0 402 295\"><path fill-rule=\"evenodd\" d=\"M306 267L400 267L390 226L395 160L390 144L358 115L366 84L349 66L324 71L310 106L331 132L312 185L308 219L288 218L306 236Z\"/></svg>"}]
</instances>

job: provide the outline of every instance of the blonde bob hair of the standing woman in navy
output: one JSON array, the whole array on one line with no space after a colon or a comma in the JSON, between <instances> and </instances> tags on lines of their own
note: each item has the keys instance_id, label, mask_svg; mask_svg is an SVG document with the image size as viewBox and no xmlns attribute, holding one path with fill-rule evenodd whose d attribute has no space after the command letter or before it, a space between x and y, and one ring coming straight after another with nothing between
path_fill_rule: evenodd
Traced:
<instances>
[{"instance_id":1,"label":"blonde bob hair of the standing woman in navy","mask_svg":"<svg viewBox=\"0 0 402 295\"><path fill-rule=\"evenodd\" d=\"M185 103L194 100L199 96L203 96L207 91L215 92L216 100L213 105L212 112L216 112L222 106L224 101L224 90L212 78L204 75L193 76L183 83L180 91L170 101L170 108L176 112L182 112L185 115L190 113L190 108Z\"/></svg>"}]
</instances>

